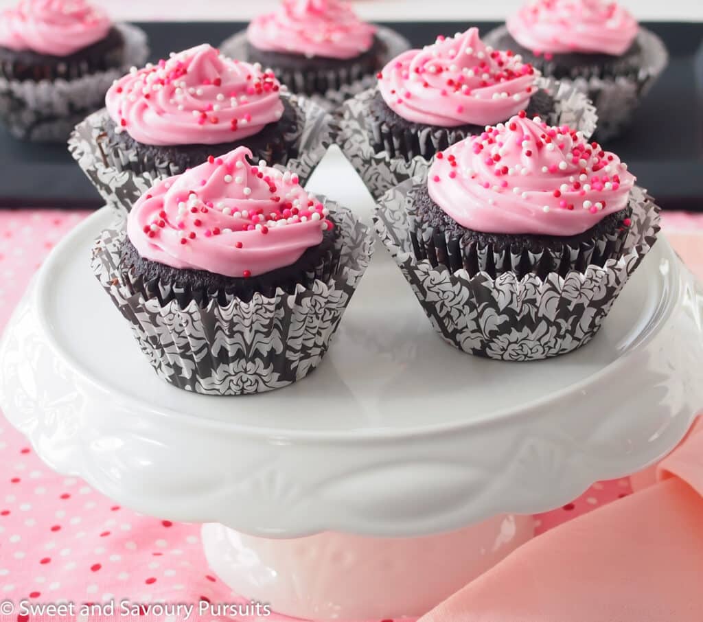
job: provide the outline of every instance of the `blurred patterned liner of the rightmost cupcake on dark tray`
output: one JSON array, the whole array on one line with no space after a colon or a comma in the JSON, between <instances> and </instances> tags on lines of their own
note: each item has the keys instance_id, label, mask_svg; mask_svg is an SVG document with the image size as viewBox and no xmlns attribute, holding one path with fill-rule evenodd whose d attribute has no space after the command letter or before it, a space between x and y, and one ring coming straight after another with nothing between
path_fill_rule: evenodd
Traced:
<instances>
[{"instance_id":1,"label":"blurred patterned liner of the rightmost cupcake on dark tray","mask_svg":"<svg viewBox=\"0 0 703 622\"><path fill-rule=\"evenodd\" d=\"M507 32L507 28L501 26L486 34L484 41L496 45ZM572 84L593 101L598 110L598 130L594 138L599 142L610 140L626 129L632 121L633 112L669 63L664 42L650 30L640 28L638 43L642 49L642 65L636 74L628 72L617 77L600 77L594 74L595 68L583 67L583 75L561 79L561 82ZM544 65L545 73L549 72L549 67L548 63Z\"/></svg>"}]
</instances>

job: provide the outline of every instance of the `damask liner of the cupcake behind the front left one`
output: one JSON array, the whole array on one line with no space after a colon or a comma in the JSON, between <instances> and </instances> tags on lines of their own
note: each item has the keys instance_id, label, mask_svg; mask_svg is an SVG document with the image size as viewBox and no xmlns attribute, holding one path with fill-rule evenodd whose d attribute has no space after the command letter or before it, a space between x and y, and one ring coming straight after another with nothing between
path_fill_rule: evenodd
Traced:
<instances>
[{"instance_id":1,"label":"damask liner of the cupcake behind the front left one","mask_svg":"<svg viewBox=\"0 0 703 622\"><path fill-rule=\"evenodd\" d=\"M297 123L295 129L283 136L291 154L288 161L285 165L270 164L280 170L295 171L300 185L304 186L335 141L335 127L332 117L316 103L295 95L282 96L294 108ZM109 118L103 108L84 119L72 132L68 149L105 202L129 212L134 202L156 181L183 171L169 162L154 163L153 169L141 169L129 161L137 157L136 153L106 151L104 138ZM221 155L217 153L217 145L213 145L212 155ZM135 169L141 171L135 172Z\"/></svg>"}]
</instances>

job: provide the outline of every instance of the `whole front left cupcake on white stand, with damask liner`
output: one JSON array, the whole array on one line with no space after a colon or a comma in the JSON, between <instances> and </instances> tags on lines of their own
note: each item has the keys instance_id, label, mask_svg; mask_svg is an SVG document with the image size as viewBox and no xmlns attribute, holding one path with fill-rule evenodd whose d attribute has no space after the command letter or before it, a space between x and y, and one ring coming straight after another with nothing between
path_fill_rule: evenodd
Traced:
<instances>
[{"instance_id":1,"label":"whole front left cupcake on white stand, with damask liner","mask_svg":"<svg viewBox=\"0 0 703 622\"><path fill-rule=\"evenodd\" d=\"M372 252L351 212L239 147L155 183L93 249L157 375L259 393L316 368Z\"/></svg>"}]
</instances>

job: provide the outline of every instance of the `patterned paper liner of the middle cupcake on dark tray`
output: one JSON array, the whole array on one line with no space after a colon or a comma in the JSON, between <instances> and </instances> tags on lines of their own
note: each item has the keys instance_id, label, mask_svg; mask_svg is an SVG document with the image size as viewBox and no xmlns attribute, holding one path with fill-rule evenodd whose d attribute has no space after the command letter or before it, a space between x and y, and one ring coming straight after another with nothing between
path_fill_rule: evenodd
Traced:
<instances>
[{"instance_id":1,"label":"patterned paper liner of the middle cupcake on dark tray","mask_svg":"<svg viewBox=\"0 0 703 622\"><path fill-rule=\"evenodd\" d=\"M385 44L386 48L386 51L380 60L379 69L388 63L392 58L395 58L400 53L410 49L410 42L401 34L389 28L382 26L378 27L376 37L380 39L382 44ZM245 30L233 34L232 37L223 41L220 44L220 50L222 53L226 54L226 56L230 56L231 58L249 60L250 62L254 62L256 60L255 58L251 60L248 58L247 32ZM297 74L293 76L277 75L277 77L281 80L281 82L283 82L283 84L288 86L288 88L294 92L304 91L306 89L306 85L310 84L311 81L316 84L337 84L337 88L329 89L324 95L309 96L316 104L320 105L322 108L325 108L328 112L336 110L343 101L354 97L362 91L366 91L366 89L369 89L376 83L375 74L366 75L360 79L352 80L352 76L340 75L337 71L319 71L316 72L314 77L311 77L309 74L304 74L303 72L297 72ZM342 83L346 82L347 84L340 84L340 81Z\"/></svg>"}]
</instances>

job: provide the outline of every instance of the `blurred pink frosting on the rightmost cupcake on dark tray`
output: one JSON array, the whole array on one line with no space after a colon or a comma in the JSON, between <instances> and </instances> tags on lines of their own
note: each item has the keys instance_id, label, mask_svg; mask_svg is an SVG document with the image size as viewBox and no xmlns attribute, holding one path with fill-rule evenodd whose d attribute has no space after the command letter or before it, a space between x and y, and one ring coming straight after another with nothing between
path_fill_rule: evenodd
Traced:
<instances>
[{"instance_id":1,"label":"blurred pink frosting on the rightmost cupcake on dark tray","mask_svg":"<svg viewBox=\"0 0 703 622\"><path fill-rule=\"evenodd\" d=\"M638 24L609 0L536 0L507 22L520 45L535 53L604 53L621 56L632 45Z\"/></svg>"}]
</instances>

